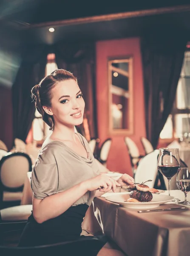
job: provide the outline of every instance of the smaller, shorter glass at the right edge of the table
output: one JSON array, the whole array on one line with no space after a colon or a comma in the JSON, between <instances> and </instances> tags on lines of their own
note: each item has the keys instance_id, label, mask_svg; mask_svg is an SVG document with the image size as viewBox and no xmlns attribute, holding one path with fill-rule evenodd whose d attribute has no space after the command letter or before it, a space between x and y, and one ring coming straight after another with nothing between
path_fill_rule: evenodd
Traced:
<instances>
[{"instance_id":1,"label":"smaller, shorter glass at the right edge of the table","mask_svg":"<svg viewBox=\"0 0 190 256\"><path fill-rule=\"evenodd\" d=\"M178 169L176 182L178 188L185 194L185 201L178 204L190 205L190 202L187 201L187 193L190 191L190 172L187 167Z\"/></svg>"}]
</instances>

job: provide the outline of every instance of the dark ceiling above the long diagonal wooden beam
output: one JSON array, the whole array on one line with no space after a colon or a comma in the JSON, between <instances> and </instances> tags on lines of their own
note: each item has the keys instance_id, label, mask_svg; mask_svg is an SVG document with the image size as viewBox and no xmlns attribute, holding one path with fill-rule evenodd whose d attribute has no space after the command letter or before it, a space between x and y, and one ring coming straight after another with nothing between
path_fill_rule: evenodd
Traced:
<instances>
[{"instance_id":1,"label":"dark ceiling above the long diagonal wooden beam","mask_svg":"<svg viewBox=\"0 0 190 256\"><path fill-rule=\"evenodd\" d=\"M132 12L161 7L181 6L185 0L159 1L74 1L74 0L1 0L0 20L9 19L22 23L37 24L77 17Z\"/></svg>"}]
</instances>

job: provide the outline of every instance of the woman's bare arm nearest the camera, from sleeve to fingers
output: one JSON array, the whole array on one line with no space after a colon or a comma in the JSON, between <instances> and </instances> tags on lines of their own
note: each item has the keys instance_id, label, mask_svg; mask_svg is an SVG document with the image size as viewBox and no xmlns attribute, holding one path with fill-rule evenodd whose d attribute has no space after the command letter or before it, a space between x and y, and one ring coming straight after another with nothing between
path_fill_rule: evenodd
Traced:
<instances>
[{"instance_id":1,"label":"woman's bare arm nearest the camera, from sleeve to fingers","mask_svg":"<svg viewBox=\"0 0 190 256\"><path fill-rule=\"evenodd\" d=\"M116 181L113 181L105 174L100 174L63 192L47 196L42 200L33 198L34 218L38 223L43 223L48 219L61 215L87 191L99 189L100 192L105 193L112 187L115 190L116 185L118 185Z\"/></svg>"}]
</instances>

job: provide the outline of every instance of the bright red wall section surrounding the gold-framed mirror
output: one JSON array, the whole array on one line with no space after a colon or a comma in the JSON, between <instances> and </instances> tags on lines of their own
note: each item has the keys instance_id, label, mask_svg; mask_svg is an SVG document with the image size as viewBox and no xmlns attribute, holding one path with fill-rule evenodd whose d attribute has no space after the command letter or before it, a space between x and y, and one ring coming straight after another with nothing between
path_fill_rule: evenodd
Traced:
<instances>
[{"instance_id":1,"label":"bright red wall section surrounding the gold-framed mirror","mask_svg":"<svg viewBox=\"0 0 190 256\"><path fill-rule=\"evenodd\" d=\"M144 154L140 137L146 136L144 89L142 79L142 62L139 38L98 41L96 43L96 100L98 135L100 143L108 137L112 145L107 161L111 171L132 175L128 150L124 136L109 136L108 134L108 57L133 56L133 111L134 133L129 136L137 144L140 154Z\"/></svg>"}]
</instances>

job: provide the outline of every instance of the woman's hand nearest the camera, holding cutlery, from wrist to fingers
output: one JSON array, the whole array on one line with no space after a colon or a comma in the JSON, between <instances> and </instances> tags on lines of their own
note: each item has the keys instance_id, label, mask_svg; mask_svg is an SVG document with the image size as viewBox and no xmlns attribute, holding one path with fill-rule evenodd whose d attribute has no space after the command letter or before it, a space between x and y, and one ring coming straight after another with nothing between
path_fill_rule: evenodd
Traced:
<instances>
[{"instance_id":1,"label":"woman's hand nearest the camera, holding cutlery, from wrist to fingers","mask_svg":"<svg viewBox=\"0 0 190 256\"><path fill-rule=\"evenodd\" d=\"M116 180L104 173L101 173L90 180L85 180L84 183L88 191L99 189L101 192L108 192L113 189L113 192L115 192L116 186L121 186Z\"/></svg>"}]
</instances>

